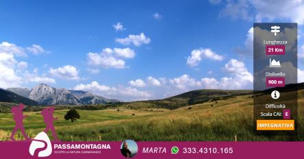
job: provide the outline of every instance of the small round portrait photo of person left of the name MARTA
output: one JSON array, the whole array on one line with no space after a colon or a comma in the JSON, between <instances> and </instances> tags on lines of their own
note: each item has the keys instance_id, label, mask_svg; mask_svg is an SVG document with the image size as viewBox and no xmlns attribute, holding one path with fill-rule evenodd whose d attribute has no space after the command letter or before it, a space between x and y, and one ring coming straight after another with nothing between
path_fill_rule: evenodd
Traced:
<instances>
[{"instance_id":1,"label":"small round portrait photo of person left of the name MARTA","mask_svg":"<svg viewBox=\"0 0 304 159\"><path fill-rule=\"evenodd\" d=\"M133 158L136 156L138 151L138 146L134 140L125 140L121 144L121 154L126 158Z\"/></svg>"}]
</instances>

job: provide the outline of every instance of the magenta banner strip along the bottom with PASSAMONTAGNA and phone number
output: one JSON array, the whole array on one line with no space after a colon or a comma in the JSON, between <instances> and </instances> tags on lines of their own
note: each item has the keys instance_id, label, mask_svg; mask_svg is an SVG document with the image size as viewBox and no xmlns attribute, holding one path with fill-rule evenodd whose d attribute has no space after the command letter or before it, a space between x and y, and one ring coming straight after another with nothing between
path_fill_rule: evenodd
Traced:
<instances>
[{"instance_id":1,"label":"magenta banner strip along the bottom with PASSAMONTAGNA and phone number","mask_svg":"<svg viewBox=\"0 0 304 159\"><path fill-rule=\"evenodd\" d=\"M37 158L31 142L0 142L1 158ZM125 158L121 142L52 142L45 158ZM301 158L303 142L137 142L133 158Z\"/></svg>"}]
</instances>

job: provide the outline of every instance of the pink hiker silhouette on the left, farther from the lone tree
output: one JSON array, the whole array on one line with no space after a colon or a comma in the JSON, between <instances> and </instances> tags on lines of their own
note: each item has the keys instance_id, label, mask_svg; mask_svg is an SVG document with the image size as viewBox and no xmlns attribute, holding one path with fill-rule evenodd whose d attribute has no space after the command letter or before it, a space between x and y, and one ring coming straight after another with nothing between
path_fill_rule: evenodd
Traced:
<instances>
[{"instance_id":1,"label":"pink hiker silhouette on the left, farther from the lone tree","mask_svg":"<svg viewBox=\"0 0 304 159\"><path fill-rule=\"evenodd\" d=\"M14 121L16 123L14 130L12 131L12 136L10 136L11 140L15 140L14 135L16 134L18 129L21 130L21 133L22 133L23 137L25 138L25 140L30 140L30 138L27 136L27 134L25 134L25 130L23 127L23 119L25 119L27 117L27 115L23 116L23 112L22 112L23 108L24 108L23 103L19 103L18 106L13 106L11 109L11 112L14 116Z\"/></svg>"}]
</instances>

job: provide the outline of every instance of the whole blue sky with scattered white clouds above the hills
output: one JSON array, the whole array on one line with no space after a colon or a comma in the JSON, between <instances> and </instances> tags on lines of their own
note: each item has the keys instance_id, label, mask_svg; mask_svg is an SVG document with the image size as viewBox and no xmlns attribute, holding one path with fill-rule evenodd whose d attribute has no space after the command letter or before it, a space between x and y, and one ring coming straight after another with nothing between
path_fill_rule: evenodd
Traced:
<instances>
[{"instance_id":1,"label":"whole blue sky with scattered white clouds above the hills","mask_svg":"<svg viewBox=\"0 0 304 159\"><path fill-rule=\"evenodd\" d=\"M304 2L268 3L1 1L0 87L47 83L125 101L251 89L254 22L299 23L304 54Z\"/></svg>"}]
</instances>

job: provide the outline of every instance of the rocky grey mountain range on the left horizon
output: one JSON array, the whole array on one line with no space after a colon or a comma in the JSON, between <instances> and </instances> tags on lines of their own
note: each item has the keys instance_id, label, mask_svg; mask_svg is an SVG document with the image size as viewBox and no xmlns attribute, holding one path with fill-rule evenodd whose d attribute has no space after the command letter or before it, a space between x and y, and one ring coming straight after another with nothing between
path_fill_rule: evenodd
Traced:
<instances>
[{"instance_id":1,"label":"rocky grey mountain range on the left horizon","mask_svg":"<svg viewBox=\"0 0 304 159\"><path fill-rule=\"evenodd\" d=\"M27 98L31 101L36 101L40 105L79 105L118 102L116 99L106 99L105 97L86 91L53 88L47 84L38 84L31 90L28 88L8 88L5 91L21 96L22 99Z\"/></svg>"}]
</instances>

